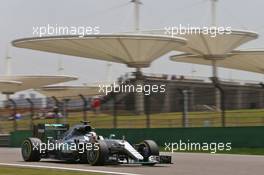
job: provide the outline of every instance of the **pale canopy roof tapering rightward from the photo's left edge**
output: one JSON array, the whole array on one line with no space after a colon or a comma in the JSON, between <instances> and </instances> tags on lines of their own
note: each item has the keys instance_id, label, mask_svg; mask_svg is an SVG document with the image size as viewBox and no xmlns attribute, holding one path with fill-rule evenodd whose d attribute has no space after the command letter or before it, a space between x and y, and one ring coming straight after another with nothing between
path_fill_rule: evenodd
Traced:
<instances>
[{"instance_id":1,"label":"pale canopy roof tapering rightward from the photo's left edge","mask_svg":"<svg viewBox=\"0 0 264 175\"><path fill-rule=\"evenodd\" d=\"M77 78L61 75L8 75L0 76L0 80L2 82L9 82L9 85L6 84L5 88L0 89L2 93L15 93L27 89L35 89L40 88L42 86L77 80Z\"/></svg>"}]
</instances>

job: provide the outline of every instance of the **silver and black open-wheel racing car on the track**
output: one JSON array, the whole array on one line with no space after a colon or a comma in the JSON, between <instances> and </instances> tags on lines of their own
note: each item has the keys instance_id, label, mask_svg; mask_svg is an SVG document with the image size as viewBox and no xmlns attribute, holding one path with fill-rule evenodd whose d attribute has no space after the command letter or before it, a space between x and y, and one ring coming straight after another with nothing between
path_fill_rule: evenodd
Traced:
<instances>
[{"instance_id":1,"label":"silver and black open-wheel racing car on the track","mask_svg":"<svg viewBox=\"0 0 264 175\"><path fill-rule=\"evenodd\" d=\"M24 161L58 159L87 163L93 166L107 164L170 164L171 156L160 155L153 140L130 144L123 137L115 139L97 135L89 122L69 128L67 124L39 124L34 126L33 137L22 143Z\"/></svg>"}]
</instances>

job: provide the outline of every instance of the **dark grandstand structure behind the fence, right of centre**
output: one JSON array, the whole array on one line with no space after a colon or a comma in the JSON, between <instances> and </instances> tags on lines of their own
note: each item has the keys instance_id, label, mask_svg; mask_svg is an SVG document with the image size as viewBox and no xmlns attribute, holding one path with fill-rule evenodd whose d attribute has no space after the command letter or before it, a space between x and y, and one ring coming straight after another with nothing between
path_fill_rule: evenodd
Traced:
<instances>
[{"instance_id":1,"label":"dark grandstand structure behind the fence, right of centre","mask_svg":"<svg viewBox=\"0 0 264 175\"><path fill-rule=\"evenodd\" d=\"M124 83L133 84L136 77L124 80ZM149 95L149 106L152 113L180 112L183 108L184 96L182 91L187 91L188 111L215 111L215 86L210 78L154 75L144 74L143 84L165 85L164 93ZM225 93L226 110L261 109L264 107L263 85L252 81L221 80ZM135 108L134 93L120 93L120 106L127 110ZM145 99L148 98L145 96ZM131 111L131 112L132 112Z\"/></svg>"}]
</instances>

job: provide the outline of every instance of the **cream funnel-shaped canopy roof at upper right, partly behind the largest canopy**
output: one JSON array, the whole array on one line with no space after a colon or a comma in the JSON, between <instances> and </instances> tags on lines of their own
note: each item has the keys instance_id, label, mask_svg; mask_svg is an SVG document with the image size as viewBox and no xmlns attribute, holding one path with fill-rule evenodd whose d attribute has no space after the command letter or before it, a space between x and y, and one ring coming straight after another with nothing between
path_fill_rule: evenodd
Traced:
<instances>
[{"instance_id":1,"label":"cream funnel-shaped canopy roof at upper right, partly behind the largest canopy","mask_svg":"<svg viewBox=\"0 0 264 175\"><path fill-rule=\"evenodd\" d=\"M214 30L212 30L212 33ZM190 30L186 34L168 33L166 30L143 31L143 33L159 34L171 37L183 37L187 39L187 44L179 48L179 51L208 57L223 57L242 44L256 39L258 35L251 31L231 30L231 33L216 33L215 37L203 32Z\"/></svg>"}]
</instances>

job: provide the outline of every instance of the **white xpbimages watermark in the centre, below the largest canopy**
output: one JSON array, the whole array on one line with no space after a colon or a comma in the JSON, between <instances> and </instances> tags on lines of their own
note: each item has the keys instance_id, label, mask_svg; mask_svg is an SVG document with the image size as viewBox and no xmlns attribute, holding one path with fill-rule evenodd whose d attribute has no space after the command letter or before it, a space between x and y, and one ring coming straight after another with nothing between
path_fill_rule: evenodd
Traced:
<instances>
[{"instance_id":1,"label":"white xpbimages watermark in the centre, below the largest canopy","mask_svg":"<svg viewBox=\"0 0 264 175\"><path fill-rule=\"evenodd\" d=\"M150 84L117 84L113 83L111 85L99 85L99 93L104 93L108 95L109 93L144 93L144 95L150 95L151 93L164 93L166 92L166 85L150 85Z\"/></svg>"}]
</instances>

